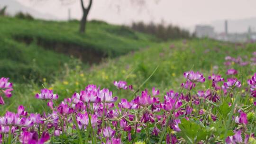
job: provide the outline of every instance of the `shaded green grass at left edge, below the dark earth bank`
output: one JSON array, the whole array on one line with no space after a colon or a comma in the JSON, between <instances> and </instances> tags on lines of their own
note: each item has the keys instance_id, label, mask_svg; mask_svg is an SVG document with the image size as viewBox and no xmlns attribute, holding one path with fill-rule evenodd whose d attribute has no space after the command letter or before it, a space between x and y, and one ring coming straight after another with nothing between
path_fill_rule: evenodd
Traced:
<instances>
[{"instance_id":1,"label":"shaded green grass at left edge, below the dark earth bank","mask_svg":"<svg viewBox=\"0 0 256 144\"><path fill-rule=\"evenodd\" d=\"M48 80L60 73L64 63L71 60L69 56L35 44L25 45L6 37L0 38L0 75L14 82Z\"/></svg>"}]
</instances>

